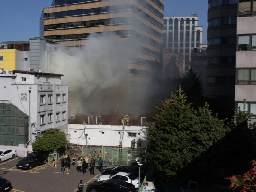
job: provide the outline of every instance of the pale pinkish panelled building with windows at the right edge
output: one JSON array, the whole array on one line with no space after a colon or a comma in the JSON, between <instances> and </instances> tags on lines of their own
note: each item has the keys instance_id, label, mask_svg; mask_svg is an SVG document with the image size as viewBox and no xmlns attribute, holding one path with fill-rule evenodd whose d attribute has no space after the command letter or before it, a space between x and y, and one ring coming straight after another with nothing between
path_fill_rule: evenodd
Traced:
<instances>
[{"instance_id":1,"label":"pale pinkish panelled building with windows at the right edge","mask_svg":"<svg viewBox=\"0 0 256 192\"><path fill-rule=\"evenodd\" d=\"M256 1L239 0L237 18L235 104L256 118ZM250 123L255 122L251 120Z\"/></svg>"}]
</instances>

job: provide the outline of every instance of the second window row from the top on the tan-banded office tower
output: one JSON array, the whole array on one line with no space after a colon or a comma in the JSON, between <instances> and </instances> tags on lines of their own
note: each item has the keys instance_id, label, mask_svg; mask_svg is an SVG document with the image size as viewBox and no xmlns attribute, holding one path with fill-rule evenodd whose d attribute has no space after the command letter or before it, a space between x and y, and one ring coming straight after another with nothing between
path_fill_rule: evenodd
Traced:
<instances>
[{"instance_id":1,"label":"second window row from the top on the tan-banded office tower","mask_svg":"<svg viewBox=\"0 0 256 192\"><path fill-rule=\"evenodd\" d=\"M115 5L110 7L99 7L99 8L91 8L91 9L78 9L78 10L69 10L55 13L44 13L44 19L55 19L59 17L82 17L87 14L101 14L109 11L124 11L124 10L132 10L141 15L142 17L148 19L150 22L154 23L156 26L163 28L163 24L155 20L155 18L149 16L141 9L138 9L135 5ZM162 18L162 17L161 17Z\"/></svg>"}]
</instances>

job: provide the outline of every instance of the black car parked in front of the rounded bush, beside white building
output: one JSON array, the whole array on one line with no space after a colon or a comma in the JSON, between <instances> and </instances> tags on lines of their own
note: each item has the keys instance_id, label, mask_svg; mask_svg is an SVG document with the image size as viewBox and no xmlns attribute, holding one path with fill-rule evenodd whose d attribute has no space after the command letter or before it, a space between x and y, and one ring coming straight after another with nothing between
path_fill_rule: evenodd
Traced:
<instances>
[{"instance_id":1,"label":"black car parked in front of the rounded bush, beside white building","mask_svg":"<svg viewBox=\"0 0 256 192\"><path fill-rule=\"evenodd\" d=\"M48 156L46 154L32 153L27 157L21 159L17 164L17 169L32 169L35 166L40 166L48 162Z\"/></svg>"}]
</instances>

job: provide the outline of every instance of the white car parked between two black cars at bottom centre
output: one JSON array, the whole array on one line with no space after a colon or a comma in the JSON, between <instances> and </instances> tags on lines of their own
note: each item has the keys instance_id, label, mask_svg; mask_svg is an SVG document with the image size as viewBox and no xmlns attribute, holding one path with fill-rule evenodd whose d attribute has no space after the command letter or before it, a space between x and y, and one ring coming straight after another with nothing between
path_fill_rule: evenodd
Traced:
<instances>
[{"instance_id":1,"label":"white car parked between two black cars at bottom centre","mask_svg":"<svg viewBox=\"0 0 256 192\"><path fill-rule=\"evenodd\" d=\"M126 181L127 183L131 183L135 186L135 188L138 188L139 178L129 173L119 172L114 175L101 175L98 181L105 181L108 179L120 179Z\"/></svg>"}]
</instances>

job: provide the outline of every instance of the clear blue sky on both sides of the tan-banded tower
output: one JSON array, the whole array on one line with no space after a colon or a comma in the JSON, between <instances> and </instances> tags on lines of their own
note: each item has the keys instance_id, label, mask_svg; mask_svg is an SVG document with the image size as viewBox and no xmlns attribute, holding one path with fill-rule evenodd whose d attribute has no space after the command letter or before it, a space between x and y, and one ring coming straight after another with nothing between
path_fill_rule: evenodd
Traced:
<instances>
[{"instance_id":1,"label":"clear blue sky on both sides of the tan-banded tower","mask_svg":"<svg viewBox=\"0 0 256 192\"><path fill-rule=\"evenodd\" d=\"M0 42L28 41L39 36L39 20L44 7L52 0L0 0ZM206 43L207 0L165 0L165 17L190 16L198 13L198 25L203 26Z\"/></svg>"}]
</instances>

